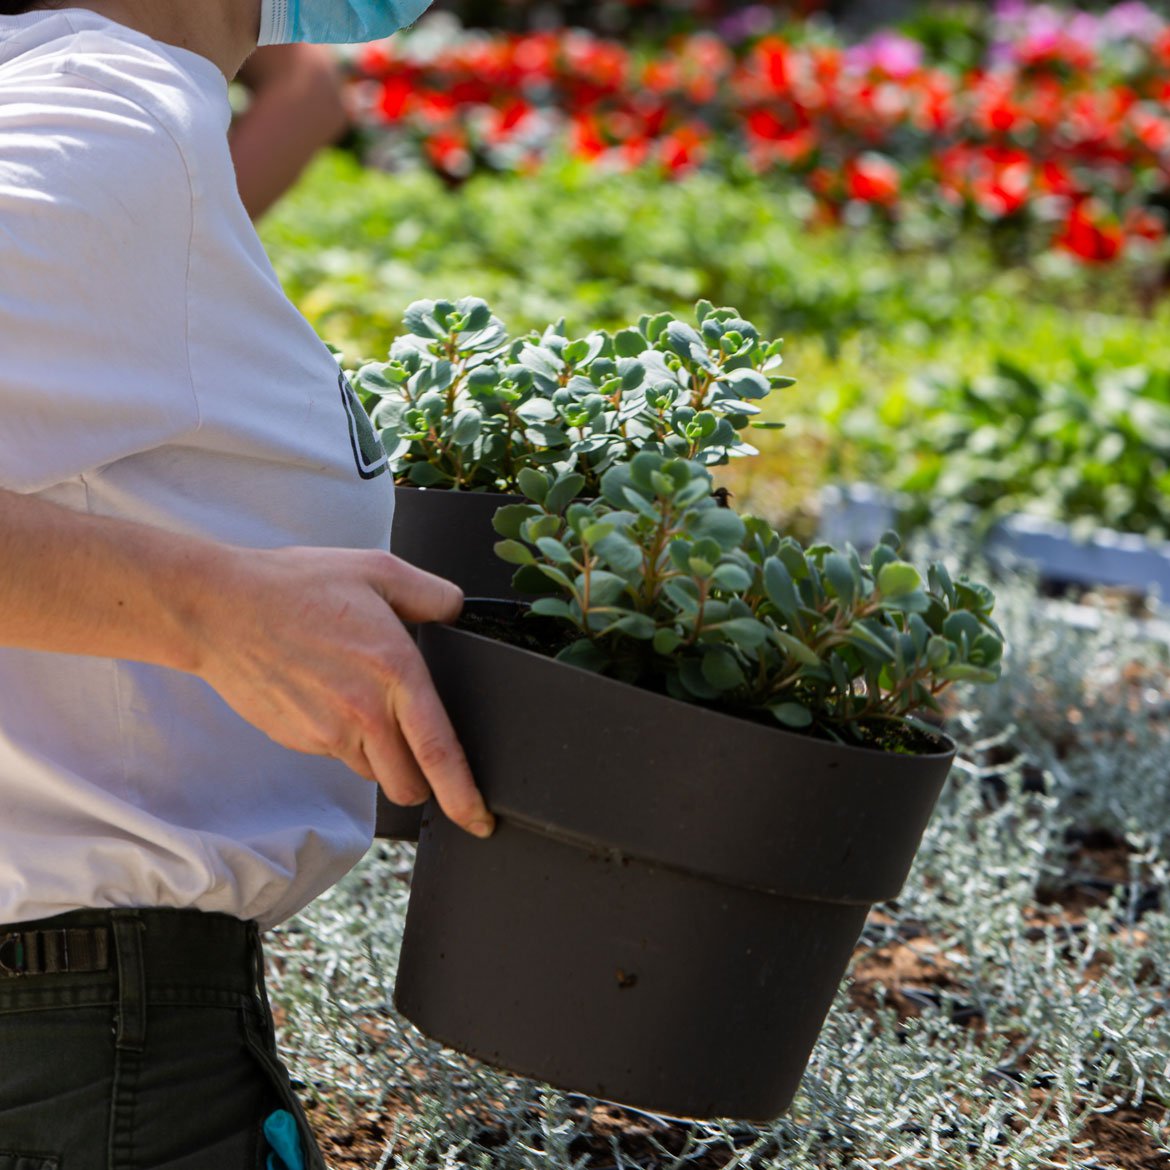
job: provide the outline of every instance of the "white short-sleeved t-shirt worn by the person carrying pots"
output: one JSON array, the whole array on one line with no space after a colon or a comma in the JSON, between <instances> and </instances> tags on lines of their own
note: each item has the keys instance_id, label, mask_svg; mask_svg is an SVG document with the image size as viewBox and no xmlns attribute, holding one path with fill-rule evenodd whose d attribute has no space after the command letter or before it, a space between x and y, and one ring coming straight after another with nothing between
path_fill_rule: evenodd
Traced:
<instances>
[{"instance_id":1,"label":"white short-sleeved t-shirt worn by the person carrying pots","mask_svg":"<svg viewBox=\"0 0 1170 1170\"><path fill-rule=\"evenodd\" d=\"M0 16L0 488L238 545L388 548L384 455L236 195L229 117L201 56L81 9ZM373 810L193 675L0 648L0 923L268 927L355 863Z\"/></svg>"}]
</instances>

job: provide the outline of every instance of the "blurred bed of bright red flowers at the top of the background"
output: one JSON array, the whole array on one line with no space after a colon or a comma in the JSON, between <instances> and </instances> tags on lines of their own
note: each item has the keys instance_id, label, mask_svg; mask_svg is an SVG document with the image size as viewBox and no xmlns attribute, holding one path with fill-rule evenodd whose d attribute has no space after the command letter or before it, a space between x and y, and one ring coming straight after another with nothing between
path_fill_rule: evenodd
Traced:
<instances>
[{"instance_id":1,"label":"blurred bed of bright red flowers at the top of the background","mask_svg":"<svg viewBox=\"0 0 1170 1170\"><path fill-rule=\"evenodd\" d=\"M978 226L1010 262L1165 254L1170 20L1140 2L1003 0L852 44L768 6L653 46L438 13L349 70L366 160L450 185L571 156L787 180L810 225L878 222L918 245Z\"/></svg>"}]
</instances>

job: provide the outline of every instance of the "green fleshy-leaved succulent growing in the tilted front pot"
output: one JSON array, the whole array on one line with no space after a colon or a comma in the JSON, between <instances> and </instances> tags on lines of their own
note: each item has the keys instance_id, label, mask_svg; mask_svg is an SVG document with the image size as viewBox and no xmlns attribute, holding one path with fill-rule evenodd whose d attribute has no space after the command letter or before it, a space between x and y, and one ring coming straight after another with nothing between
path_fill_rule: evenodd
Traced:
<instances>
[{"instance_id":1,"label":"green fleshy-leaved succulent growing in the tilted front pot","mask_svg":"<svg viewBox=\"0 0 1170 1170\"><path fill-rule=\"evenodd\" d=\"M868 564L805 550L721 507L697 461L655 450L610 467L599 498L580 502L583 486L530 470L528 502L495 517L517 587L580 634L566 661L855 743L937 710L952 682L999 676L991 591L941 563L921 573L892 534Z\"/></svg>"}]
</instances>

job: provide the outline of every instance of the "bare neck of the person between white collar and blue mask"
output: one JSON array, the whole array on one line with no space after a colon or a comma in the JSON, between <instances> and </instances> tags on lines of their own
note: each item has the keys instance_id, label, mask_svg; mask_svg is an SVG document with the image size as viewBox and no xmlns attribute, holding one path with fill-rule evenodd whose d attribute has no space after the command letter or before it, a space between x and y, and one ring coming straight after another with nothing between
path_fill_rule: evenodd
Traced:
<instances>
[{"instance_id":1,"label":"bare neck of the person between white collar and blue mask","mask_svg":"<svg viewBox=\"0 0 1170 1170\"><path fill-rule=\"evenodd\" d=\"M70 6L198 53L229 81L260 35L260 0L70 0Z\"/></svg>"}]
</instances>

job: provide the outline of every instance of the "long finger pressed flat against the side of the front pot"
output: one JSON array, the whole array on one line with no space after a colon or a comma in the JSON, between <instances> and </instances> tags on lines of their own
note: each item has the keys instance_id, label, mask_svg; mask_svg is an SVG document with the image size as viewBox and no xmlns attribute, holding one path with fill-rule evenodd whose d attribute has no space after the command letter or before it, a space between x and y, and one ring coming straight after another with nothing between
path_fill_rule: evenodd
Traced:
<instances>
[{"instance_id":1,"label":"long finger pressed flat against the side of the front pot","mask_svg":"<svg viewBox=\"0 0 1170 1170\"><path fill-rule=\"evenodd\" d=\"M395 677L391 704L401 734L439 806L474 837L490 837L495 818L472 778L467 757L421 659Z\"/></svg>"}]
</instances>

